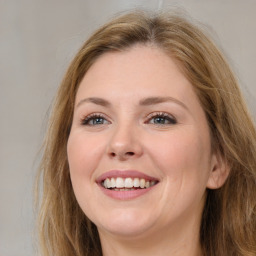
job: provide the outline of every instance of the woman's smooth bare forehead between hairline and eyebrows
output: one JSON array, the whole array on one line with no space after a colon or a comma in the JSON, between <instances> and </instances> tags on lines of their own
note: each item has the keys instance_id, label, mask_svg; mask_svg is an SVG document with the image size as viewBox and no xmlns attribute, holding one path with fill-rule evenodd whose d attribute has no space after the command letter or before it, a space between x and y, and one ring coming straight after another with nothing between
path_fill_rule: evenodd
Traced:
<instances>
[{"instance_id":1,"label":"woman's smooth bare forehead between hairline and eyebrows","mask_svg":"<svg viewBox=\"0 0 256 256\"><path fill-rule=\"evenodd\" d=\"M108 52L96 60L82 79L76 101L95 96L113 100L140 96L197 100L175 61L163 50L143 45Z\"/></svg>"}]
</instances>

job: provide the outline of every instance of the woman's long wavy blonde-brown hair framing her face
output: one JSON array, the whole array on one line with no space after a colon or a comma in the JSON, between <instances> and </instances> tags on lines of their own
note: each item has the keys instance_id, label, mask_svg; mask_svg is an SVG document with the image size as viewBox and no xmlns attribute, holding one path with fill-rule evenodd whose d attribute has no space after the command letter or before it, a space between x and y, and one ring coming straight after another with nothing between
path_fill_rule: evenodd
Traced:
<instances>
[{"instance_id":1,"label":"woman's long wavy blonde-brown hair framing her face","mask_svg":"<svg viewBox=\"0 0 256 256\"><path fill-rule=\"evenodd\" d=\"M180 66L206 113L213 149L230 167L226 183L208 190L201 223L207 256L256 255L256 132L237 82L212 41L176 14L134 11L96 31L70 64L53 107L38 175L43 181L39 240L44 256L102 255L95 225L73 193L67 140L81 79L99 56L153 44Z\"/></svg>"}]
</instances>

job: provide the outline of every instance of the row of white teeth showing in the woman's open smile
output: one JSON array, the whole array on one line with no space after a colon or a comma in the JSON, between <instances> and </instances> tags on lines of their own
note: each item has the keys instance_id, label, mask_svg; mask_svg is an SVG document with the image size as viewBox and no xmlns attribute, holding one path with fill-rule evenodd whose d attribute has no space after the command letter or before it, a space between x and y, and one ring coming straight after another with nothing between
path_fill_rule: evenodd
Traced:
<instances>
[{"instance_id":1,"label":"row of white teeth showing in the woman's open smile","mask_svg":"<svg viewBox=\"0 0 256 256\"><path fill-rule=\"evenodd\" d=\"M117 191L134 190L134 188L149 188L156 184L156 181L149 181L139 178L107 178L102 182L105 188L112 188Z\"/></svg>"}]
</instances>

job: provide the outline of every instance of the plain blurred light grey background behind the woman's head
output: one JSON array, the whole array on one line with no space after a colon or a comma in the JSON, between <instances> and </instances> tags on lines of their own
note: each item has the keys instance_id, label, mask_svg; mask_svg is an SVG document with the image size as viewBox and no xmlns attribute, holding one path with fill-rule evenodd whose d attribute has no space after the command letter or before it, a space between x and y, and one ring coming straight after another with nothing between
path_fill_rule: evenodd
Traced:
<instances>
[{"instance_id":1,"label":"plain blurred light grey background behind the woman's head","mask_svg":"<svg viewBox=\"0 0 256 256\"><path fill-rule=\"evenodd\" d=\"M49 106L77 49L116 12L170 5L209 26L255 118L255 0L0 0L0 256L35 255L38 151Z\"/></svg>"}]
</instances>

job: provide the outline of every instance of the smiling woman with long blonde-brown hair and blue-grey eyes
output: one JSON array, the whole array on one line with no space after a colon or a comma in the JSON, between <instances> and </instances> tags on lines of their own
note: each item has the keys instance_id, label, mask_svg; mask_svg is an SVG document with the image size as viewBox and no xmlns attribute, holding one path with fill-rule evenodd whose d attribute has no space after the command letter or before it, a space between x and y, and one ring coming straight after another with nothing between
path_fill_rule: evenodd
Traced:
<instances>
[{"instance_id":1,"label":"smiling woman with long blonde-brown hair and blue-grey eyes","mask_svg":"<svg viewBox=\"0 0 256 256\"><path fill-rule=\"evenodd\" d=\"M256 255L256 133L214 44L132 12L72 61L41 164L42 255Z\"/></svg>"}]
</instances>

